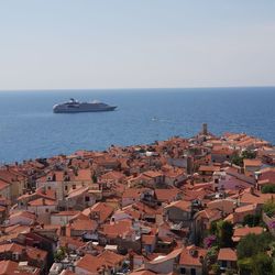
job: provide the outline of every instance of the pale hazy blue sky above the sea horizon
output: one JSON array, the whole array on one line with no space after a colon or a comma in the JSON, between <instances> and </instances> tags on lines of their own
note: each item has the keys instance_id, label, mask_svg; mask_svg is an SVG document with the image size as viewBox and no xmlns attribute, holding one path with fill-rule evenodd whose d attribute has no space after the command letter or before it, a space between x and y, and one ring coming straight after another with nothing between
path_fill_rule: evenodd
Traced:
<instances>
[{"instance_id":1,"label":"pale hazy blue sky above the sea horizon","mask_svg":"<svg viewBox=\"0 0 275 275\"><path fill-rule=\"evenodd\" d=\"M274 0L0 0L0 90L275 86Z\"/></svg>"}]
</instances>

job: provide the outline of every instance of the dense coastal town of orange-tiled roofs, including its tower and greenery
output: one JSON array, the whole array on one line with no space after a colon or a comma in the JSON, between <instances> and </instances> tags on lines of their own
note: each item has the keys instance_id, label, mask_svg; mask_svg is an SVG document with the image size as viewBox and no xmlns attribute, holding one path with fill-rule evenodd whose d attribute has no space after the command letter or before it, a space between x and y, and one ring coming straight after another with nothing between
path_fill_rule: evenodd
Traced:
<instances>
[{"instance_id":1,"label":"dense coastal town of orange-tiled roofs, including its tower and greenery","mask_svg":"<svg viewBox=\"0 0 275 275\"><path fill-rule=\"evenodd\" d=\"M274 274L275 147L212 134L0 167L0 274Z\"/></svg>"}]
</instances>

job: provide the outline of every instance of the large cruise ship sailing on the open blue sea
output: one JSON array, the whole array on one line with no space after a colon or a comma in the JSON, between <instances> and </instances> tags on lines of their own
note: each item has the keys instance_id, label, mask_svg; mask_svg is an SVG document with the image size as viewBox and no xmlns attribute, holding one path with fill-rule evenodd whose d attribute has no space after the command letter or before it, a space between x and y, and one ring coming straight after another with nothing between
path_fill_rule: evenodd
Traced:
<instances>
[{"instance_id":1,"label":"large cruise ship sailing on the open blue sea","mask_svg":"<svg viewBox=\"0 0 275 275\"><path fill-rule=\"evenodd\" d=\"M74 98L70 98L69 101L55 105L53 107L53 111L55 113L62 113L62 112L105 112L105 111L113 111L117 108L117 106L109 106L106 103L102 103L98 100L94 100L91 102L79 102L75 100Z\"/></svg>"}]
</instances>

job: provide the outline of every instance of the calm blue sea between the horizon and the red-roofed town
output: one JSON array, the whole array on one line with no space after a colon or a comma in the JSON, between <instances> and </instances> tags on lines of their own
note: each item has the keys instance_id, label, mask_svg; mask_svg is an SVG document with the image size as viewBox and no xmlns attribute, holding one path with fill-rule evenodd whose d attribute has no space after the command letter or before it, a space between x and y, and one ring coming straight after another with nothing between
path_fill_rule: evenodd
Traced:
<instances>
[{"instance_id":1,"label":"calm blue sea between the horizon and the red-roofed town","mask_svg":"<svg viewBox=\"0 0 275 275\"><path fill-rule=\"evenodd\" d=\"M118 106L113 112L55 114L74 97ZM191 136L246 132L275 143L275 87L0 92L0 163Z\"/></svg>"}]
</instances>

